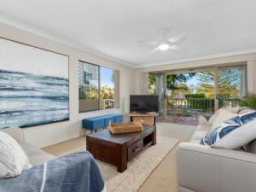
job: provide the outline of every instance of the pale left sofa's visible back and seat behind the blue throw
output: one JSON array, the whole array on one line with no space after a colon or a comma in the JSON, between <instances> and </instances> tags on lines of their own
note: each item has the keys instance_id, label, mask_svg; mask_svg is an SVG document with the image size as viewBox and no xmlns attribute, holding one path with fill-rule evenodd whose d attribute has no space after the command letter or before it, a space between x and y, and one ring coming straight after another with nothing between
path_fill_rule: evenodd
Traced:
<instances>
[{"instance_id":1,"label":"pale left sofa's visible back and seat behind the blue throw","mask_svg":"<svg viewBox=\"0 0 256 192\"><path fill-rule=\"evenodd\" d=\"M45 153L43 150L32 144L26 143L23 130L19 127L3 129L2 131L15 138L17 143L20 144L20 147L25 151L32 166L40 165L56 158L54 155Z\"/></svg>"}]
</instances>

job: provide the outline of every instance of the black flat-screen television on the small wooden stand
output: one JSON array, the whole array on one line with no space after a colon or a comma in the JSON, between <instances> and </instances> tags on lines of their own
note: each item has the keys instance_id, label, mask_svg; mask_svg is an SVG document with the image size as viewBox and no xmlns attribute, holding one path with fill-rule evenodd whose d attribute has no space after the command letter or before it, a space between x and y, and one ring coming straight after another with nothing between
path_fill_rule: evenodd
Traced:
<instances>
[{"instance_id":1,"label":"black flat-screen television on the small wooden stand","mask_svg":"<svg viewBox=\"0 0 256 192\"><path fill-rule=\"evenodd\" d=\"M159 111L159 96L130 96L130 112L147 113Z\"/></svg>"}]
</instances>

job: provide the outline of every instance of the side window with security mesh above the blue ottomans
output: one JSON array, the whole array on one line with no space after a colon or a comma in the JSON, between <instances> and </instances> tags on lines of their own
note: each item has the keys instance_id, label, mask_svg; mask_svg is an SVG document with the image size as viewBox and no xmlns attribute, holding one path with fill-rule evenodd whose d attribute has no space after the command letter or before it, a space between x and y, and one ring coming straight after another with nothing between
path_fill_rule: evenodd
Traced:
<instances>
[{"instance_id":1,"label":"side window with security mesh above the blue ottomans","mask_svg":"<svg viewBox=\"0 0 256 192\"><path fill-rule=\"evenodd\" d=\"M119 108L119 71L79 61L79 113Z\"/></svg>"}]
</instances>

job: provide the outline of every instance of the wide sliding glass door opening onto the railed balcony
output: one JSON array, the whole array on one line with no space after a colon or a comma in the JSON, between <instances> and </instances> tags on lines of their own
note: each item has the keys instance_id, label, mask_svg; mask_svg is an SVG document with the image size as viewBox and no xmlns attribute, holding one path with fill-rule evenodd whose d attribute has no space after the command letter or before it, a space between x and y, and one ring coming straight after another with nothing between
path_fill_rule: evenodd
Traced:
<instances>
[{"instance_id":1,"label":"wide sliding glass door opening onto the railed balcony","mask_svg":"<svg viewBox=\"0 0 256 192\"><path fill-rule=\"evenodd\" d=\"M246 65L193 68L148 74L148 92L160 97L160 118L197 124L218 108L238 106L247 92Z\"/></svg>"}]
</instances>

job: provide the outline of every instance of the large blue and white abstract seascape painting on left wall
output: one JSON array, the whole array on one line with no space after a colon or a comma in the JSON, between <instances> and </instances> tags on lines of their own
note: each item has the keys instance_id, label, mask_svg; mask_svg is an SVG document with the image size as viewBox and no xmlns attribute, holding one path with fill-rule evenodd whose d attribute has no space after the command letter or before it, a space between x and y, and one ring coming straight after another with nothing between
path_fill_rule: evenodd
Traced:
<instances>
[{"instance_id":1,"label":"large blue and white abstract seascape painting on left wall","mask_svg":"<svg viewBox=\"0 0 256 192\"><path fill-rule=\"evenodd\" d=\"M0 38L0 129L69 119L68 56Z\"/></svg>"}]
</instances>

